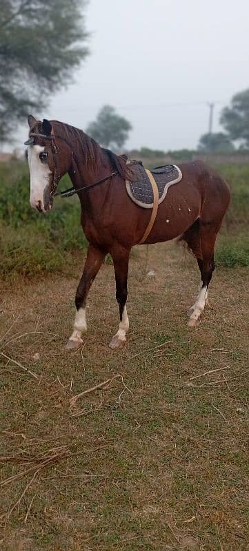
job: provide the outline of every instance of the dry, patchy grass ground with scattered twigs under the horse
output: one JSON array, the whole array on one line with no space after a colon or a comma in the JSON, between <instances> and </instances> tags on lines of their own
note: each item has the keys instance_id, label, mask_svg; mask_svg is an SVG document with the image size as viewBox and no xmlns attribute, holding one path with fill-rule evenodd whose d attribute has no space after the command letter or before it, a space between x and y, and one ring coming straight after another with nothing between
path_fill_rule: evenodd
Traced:
<instances>
[{"instance_id":1,"label":"dry, patchy grass ground with scattered twigs under the horse","mask_svg":"<svg viewBox=\"0 0 249 551\"><path fill-rule=\"evenodd\" d=\"M195 260L140 247L126 348L108 347L118 310L103 265L68 353L80 271L78 259L71 278L1 283L0 548L249 550L248 270L217 270L189 329Z\"/></svg>"}]
</instances>

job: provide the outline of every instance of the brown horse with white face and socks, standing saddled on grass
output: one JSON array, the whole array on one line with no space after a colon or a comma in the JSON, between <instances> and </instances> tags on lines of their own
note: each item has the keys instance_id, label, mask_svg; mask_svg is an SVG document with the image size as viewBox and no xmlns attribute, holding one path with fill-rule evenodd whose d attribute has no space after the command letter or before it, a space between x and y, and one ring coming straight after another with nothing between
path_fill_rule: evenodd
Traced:
<instances>
[{"instance_id":1,"label":"brown horse with white face and socks, standing saddled on grass","mask_svg":"<svg viewBox=\"0 0 249 551\"><path fill-rule=\"evenodd\" d=\"M28 116L30 135L30 205L39 212L52 208L59 180L68 172L81 202L81 225L89 242L75 304L77 313L67 348L76 349L86 331L86 298L106 253L114 263L119 330L112 349L123 346L129 321L126 311L130 250L137 245L150 221L150 209L136 205L127 194L125 179L132 178L125 155L103 149L81 130L58 121L37 121ZM230 202L226 182L201 161L179 166L182 179L168 190L159 205L146 244L181 238L197 258L201 289L190 309L188 324L195 326L203 312L208 284L215 269L214 247ZM99 185L96 185L99 183ZM100 185L101 183L101 185ZM95 185L94 185L95 184ZM86 188L87 189L82 189ZM167 222L167 223L166 223Z\"/></svg>"}]
</instances>

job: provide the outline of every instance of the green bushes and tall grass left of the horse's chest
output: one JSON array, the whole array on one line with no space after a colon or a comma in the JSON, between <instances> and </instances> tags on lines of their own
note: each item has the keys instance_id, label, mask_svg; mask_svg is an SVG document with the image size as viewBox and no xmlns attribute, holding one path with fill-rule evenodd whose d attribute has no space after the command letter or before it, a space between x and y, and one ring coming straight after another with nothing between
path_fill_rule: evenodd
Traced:
<instances>
[{"instance_id":1,"label":"green bushes and tall grass left of the horse's chest","mask_svg":"<svg viewBox=\"0 0 249 551\"><path fill-rule=\"evenodd\" d=\"M30 208L28 165L13 161L0 165L0 273L35 275L61 271L72 261L67 251L84 250L87 240L80 223L77 198L54 199L48 215ZM68 176L60 189L70 187Z\"/></svg>"}]
</instances>

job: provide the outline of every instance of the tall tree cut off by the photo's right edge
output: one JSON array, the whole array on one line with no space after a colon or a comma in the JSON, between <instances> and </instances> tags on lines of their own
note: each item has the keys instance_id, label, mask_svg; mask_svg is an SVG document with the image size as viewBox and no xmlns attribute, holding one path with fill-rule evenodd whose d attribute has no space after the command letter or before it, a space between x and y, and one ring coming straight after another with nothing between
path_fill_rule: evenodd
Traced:
<instances>
[{"instance_id":1,"label":"tall tree cut off by the photo's right edge","mask_svg":"<svg viewBox=\"0 0 249 551\"><path fill-rule=\"evenodd\" d=\"M224 107L220 118L232 140L249 147L249 89L232 97L230 107Z\"/></svg>"}]
</instances>

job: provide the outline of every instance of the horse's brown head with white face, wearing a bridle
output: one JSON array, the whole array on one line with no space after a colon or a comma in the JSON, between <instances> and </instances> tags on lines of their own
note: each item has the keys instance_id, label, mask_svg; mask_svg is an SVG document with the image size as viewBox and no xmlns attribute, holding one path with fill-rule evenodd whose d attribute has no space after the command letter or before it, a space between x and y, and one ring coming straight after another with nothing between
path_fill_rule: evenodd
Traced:
<instances>
[{"instance_id":1,"label":"horse's brown head with white face, wearing a bridle","mask_svg":"<svg viewBox=\"0 0 249 551\"><path fill-rule=\"evenodd\" d=\"M37 121L29 115L28 125L30 205L39 212L46 212L52 209L52 198L61 176L70 168L70 149L65 141L54 136L50 121Z\"/></svg>"}]
</instances>

